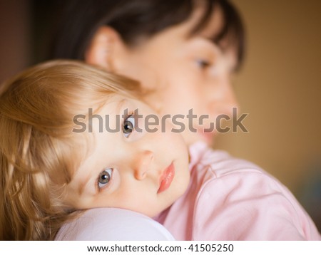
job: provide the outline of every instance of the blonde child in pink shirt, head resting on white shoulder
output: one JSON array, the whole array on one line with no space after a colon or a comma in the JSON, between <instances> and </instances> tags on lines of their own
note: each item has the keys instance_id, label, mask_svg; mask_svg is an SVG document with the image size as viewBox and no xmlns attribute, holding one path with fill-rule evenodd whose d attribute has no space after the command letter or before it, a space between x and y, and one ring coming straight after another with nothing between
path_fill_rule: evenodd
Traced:
<instances>
[{"instance_id":1,"label":"blonde child in pink shirt, head resting on white shoulder","mask_svg":"<svg viewBox=\"0 0 321 255\"><path fill-rule=\"evenodd\" d=\"M155 217L176 239L320 239L292 194L255 165L199 143L188 167L170 123L148 132L143 120L156 113L137 86L73 61L2 85L0 239L54 239L97 207Z\"/></svg>"}]
</instances>

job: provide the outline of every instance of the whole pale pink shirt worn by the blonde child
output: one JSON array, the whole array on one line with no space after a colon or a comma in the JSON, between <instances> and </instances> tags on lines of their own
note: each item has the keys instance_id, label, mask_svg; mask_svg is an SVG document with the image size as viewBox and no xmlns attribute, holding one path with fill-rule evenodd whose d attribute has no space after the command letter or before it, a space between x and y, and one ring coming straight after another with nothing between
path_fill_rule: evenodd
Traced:
<instances>
[{"instance_id":1,"label":"whole pale pink shirt worn by the blonde child","mask_svg":"<svg viewBox=\"0 0 321 255\"><path fill-rule=\"evenodd\" d=\"M156 220L177 240L321 240L291 192L258 166L190 147L188 190Z\"/></svg>"}]
</instances>

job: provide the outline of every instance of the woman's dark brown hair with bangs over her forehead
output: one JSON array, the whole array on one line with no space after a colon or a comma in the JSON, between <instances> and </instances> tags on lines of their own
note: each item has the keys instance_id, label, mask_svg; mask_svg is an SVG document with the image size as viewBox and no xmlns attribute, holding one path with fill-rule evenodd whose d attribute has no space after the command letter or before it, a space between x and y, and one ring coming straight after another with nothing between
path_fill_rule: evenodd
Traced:
<instances>
[{"instance_id":1,"label":"woman's dark brown hair with bangs over her forehead","mask_svg":"<svg viewBox=\"0 0 321 255\"><path fill-rule=\"evenodd\" d=\"M228 42L237 46L240 63L244 53L244 29L238 11L228 0L66 0L56 16L58 21L54 24L49 58L83 60L93 35L103 25L113 27L128 46L133 46L138 38L148 38L188 19L198 1L206 4L206 11L191 34L200 31L213 9L220 6L224 21L213 41L219 45L228 36Z\"/></svg>"}]
</instances>

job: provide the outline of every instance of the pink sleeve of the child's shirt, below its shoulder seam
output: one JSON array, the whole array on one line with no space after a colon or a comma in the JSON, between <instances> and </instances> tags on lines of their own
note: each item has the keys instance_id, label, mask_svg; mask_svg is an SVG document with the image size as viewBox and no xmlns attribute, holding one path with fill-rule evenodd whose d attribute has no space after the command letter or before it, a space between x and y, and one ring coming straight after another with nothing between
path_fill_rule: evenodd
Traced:
<instances>
[{"instance_id":1,"label":"pink sleeve of the child's shirt, below its shoulder seam","mask_svg":"<svg viewBox=\"0 0 321 255\"><path fill-rule=\"evenodd\" d=\"M264 172L211 179L196 200L194 240L321 239L295 197Z\"/></svg>"}]
</instances>

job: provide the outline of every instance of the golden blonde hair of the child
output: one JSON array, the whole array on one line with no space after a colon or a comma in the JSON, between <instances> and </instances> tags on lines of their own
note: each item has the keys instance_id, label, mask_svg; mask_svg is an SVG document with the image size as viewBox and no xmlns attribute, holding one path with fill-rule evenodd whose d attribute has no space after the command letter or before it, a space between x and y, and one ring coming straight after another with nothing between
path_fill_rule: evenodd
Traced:
<instances>
[{"instance_id":1,"label":"golden blonde hair of the child","mask_svg":"<svg viewBox=\"0 0 321 255\"><path fill-rule=\"evenodd\" d=\"M0 87L0 239L49 240L77 212L63 202L84 146L73 116L138 83L78 61L49 61Z\"/></svg>"}]
</instances>

